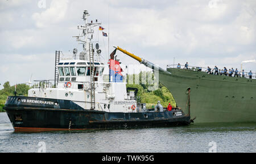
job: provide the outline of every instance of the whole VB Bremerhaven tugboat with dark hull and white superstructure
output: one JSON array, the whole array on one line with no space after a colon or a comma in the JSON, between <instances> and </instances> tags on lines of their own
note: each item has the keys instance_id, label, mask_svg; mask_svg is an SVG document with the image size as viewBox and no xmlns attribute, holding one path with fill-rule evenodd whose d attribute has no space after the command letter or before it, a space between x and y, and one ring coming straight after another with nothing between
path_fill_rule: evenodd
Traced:
<instances>
[{"instance_id":1,"label":"whole VB Bremerhaven tugboat with dark hull and white superstructure","mask_svg":"<svg viewBox=\"0 0 256 164\"><path fill-rule=\"evenodd\" d=\"M186 125L190 113L180 108L164 109L160 102L155 109L138 103L134 91L126 89L120 62L110 55L108 63L101 57L98 42L93 40L94 28L101 23L88 22L88 11L76 36L82 51L73 58L60 59L56 51L55 80L36 80L28 97L10 96L4 109L15 132L64 130L106 130ZM188 97L188 102L190 98ZM190 107L190 103L189 103Z\"/></svg>"}]
</instances>

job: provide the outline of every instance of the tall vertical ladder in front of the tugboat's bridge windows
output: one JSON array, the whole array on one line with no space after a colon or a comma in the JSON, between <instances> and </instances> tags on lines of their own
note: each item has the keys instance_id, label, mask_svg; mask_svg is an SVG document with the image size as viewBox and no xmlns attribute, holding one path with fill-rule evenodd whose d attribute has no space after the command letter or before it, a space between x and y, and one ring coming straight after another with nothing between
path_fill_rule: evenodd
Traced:
<instances>
[{"instance_id":1,"label":"tall vertical ladder in front of the tugboat's bridge windows","mask_svg":"<svg viewBox=\"0 0 256 164\"><path fill-rule=\"evenodd\" d=\"M90 109L95 109L95 79L94 79L94 53L93 44L89 43L89 59L90 59Z\"/></svg>"}]
</instances>

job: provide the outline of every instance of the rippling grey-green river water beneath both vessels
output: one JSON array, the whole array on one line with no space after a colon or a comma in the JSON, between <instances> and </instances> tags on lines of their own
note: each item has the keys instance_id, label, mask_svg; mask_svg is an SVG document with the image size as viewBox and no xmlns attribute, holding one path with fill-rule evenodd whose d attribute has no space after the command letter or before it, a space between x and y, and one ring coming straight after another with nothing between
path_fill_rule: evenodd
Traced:
<instances>
[{"instance_id":1,"label":"rippling grey-green river water beneath both vessels","mask_svg":"<svg viewBox=\"0 0 256 164\"><path fill-rule=\"evenodd\" d=\"M15 133L0 113L0 152L256 152L256 123L79 132Z\"/></svg>"}]
</instances>

